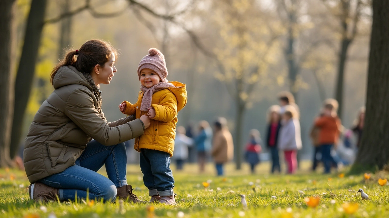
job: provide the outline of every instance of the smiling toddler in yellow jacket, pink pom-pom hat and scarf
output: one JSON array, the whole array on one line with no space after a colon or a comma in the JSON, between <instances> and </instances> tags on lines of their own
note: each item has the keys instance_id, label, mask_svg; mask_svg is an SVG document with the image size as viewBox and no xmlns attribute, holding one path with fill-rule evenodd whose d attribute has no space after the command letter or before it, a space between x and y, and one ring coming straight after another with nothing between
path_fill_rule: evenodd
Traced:
<instances>
[{"instance_id":1,"label":"smiling toddler in yellow jacket, pink pom-pom hat and scarf","mask_svg":"<svg viewBox=\"0 0 389 218\"><path fill-rule=\"evenodd\" d=\"M156 48L149 49L138 66L141 87L135 104L124 101L120 111L135 117L147 114L150 127L144 135L135 139L134 148L140 152L140 169L143 182L149 189L150 202L176 204L174 199L174 178L170 170L173 155L177 113L187 101L185 85L168 82L165 57Z\"/></svg>"}]
</instances>

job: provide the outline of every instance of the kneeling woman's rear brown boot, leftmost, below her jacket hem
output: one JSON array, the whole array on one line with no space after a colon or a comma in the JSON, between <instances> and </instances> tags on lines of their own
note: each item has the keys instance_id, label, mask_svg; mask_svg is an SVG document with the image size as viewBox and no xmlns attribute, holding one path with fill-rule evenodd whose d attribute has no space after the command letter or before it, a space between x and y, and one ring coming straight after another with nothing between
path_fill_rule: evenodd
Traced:
<instances>
[{"instance_id":1,"label":"kneeling woman's rear brown boot, leftmost, below her jacket hem","mask_svg":"<svg viewBox=\"0 0 389 218\"><path fill-rule=\"evenodd\" d=\"M57 196L59 196L59 190L45 185L40 182L35 182L28 187L28 194L31 199L36 202L49 202L57 201Z\"/></svg>"}]
</instances>

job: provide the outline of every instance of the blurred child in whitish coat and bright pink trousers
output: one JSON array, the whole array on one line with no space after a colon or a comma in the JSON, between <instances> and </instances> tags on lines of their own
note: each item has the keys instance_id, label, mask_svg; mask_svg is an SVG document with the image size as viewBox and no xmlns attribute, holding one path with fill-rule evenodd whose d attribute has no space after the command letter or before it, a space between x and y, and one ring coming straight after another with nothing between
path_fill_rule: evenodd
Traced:
<instances>
[{"instance_id":1,"label":"blurred child in whitish coat and bright pink trousers","mask_svg":"<svg viewBox=\"0 0 389 218\"><path fill-rule=\"evenodd\" d=\"M288 165L288 174L297 170L297 151L301 149L301 131L297 111L293 106L286 106L282 114L282 127L280 130L279 149L284 151L285 161Z\"/></svg>"}]
</instances>

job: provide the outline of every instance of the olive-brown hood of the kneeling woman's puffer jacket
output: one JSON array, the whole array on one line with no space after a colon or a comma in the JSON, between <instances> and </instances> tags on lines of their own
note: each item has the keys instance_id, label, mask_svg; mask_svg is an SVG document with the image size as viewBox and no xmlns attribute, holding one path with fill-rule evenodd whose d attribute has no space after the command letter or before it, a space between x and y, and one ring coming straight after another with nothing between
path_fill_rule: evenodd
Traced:
<instances>
[{"instance_id":1,"label":"olive-brown hood of the kneeling woman's puffer jacket","mask_svg":"<svg viewBox=\"0 0 389 218\"><path fill-rule=\"evenodd\" d=\"M74 84L86 86L93 91L92 86L86 81L84 75L74 66L63 66L54 76L53 87L55 89Z\"/></svg>"}]
</instances>

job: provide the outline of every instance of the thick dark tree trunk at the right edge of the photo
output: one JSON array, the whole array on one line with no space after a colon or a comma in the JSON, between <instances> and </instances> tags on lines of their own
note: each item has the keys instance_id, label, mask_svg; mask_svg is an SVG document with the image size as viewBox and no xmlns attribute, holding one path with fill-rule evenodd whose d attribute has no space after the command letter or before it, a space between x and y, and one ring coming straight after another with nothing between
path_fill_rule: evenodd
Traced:
<instances>
[{"instance_id":1,"label":"thick dark tree trunk at the right edge of the photo","mask_svg":"<svg viewBox=\"0 0 389 218\"><path fill-rule=\"evenodd\" d=\"M353 171L382 169L389 162L389 1L373 0L373 24L361 147Z\"/></svg>"}]
</instances>

